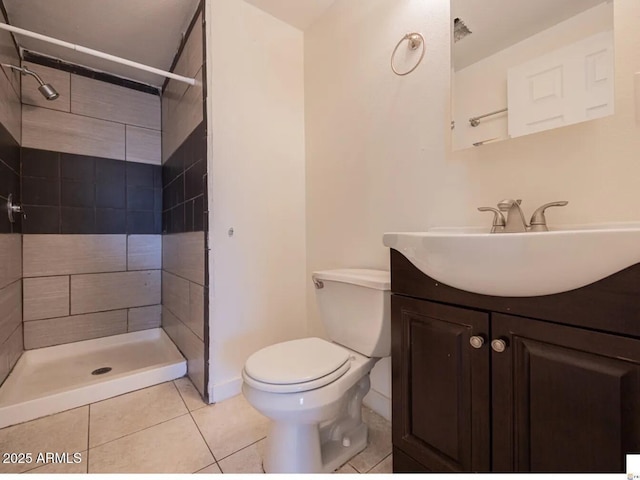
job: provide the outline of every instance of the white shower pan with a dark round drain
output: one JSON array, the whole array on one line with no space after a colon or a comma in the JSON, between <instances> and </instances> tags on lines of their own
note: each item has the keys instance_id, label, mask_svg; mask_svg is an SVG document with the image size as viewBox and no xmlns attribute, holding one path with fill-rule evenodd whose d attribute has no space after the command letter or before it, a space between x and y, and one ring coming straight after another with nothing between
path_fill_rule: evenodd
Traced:
<instances>
[{"instance_id":1,"label":"white shower pan with a dark round drain","mask_svg":"<svg viewBox=\"0 0 640 480\"><path fill-rule=\"evenodd\" d=\"M107 373L92 374L111 368ZM0 388L0 428L182 377L161 328L24 352Z\"/></svg>"}]
</instances>

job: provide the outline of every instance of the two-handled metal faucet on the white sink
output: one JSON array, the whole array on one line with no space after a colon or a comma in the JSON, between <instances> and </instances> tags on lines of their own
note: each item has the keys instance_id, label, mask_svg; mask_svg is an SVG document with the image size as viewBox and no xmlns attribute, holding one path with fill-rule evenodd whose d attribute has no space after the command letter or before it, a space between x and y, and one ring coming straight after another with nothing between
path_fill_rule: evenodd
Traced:
<instances>
[{"instance_id":1,"label":"two-handled metal faucet on the white sink","mask_svg":"<svg viewBox=\"0 0 640 480\"><path fill-rule=\"evenodd\" d=\"M545 203L540 208L536 209L531 216L530 225L527 225L524 219L524 213L520 204L522 200L502 200L498 203L498 208L492 207L478 207L481 212L493 212L493 224L491 226L491 233L521 233L521 232L547 232L547 219L545 217L545 210L549 207L564 207L569 202L559 201ZM506 217L503 214L506 212Z\"/></svg>"}]
</instances>

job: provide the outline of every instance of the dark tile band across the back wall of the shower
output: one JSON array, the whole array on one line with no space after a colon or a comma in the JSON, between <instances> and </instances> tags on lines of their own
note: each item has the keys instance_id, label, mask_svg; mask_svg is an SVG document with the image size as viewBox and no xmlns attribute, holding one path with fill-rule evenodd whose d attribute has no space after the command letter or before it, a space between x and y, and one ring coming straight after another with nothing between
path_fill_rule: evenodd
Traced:
<instances>
[{"instance_id":1,"label":"dark tile band across the back wall of the shower","mask_svg":"<svg viewBox=\"0 0 640 480\"><path fill-rule=\"evenodd\" d=\"M21 153L24 233L162 231L162 195L154 188L162 178L160 165L30 148ZM0 159L0 196L1 174Z\"/></svg>"}]
</instances>

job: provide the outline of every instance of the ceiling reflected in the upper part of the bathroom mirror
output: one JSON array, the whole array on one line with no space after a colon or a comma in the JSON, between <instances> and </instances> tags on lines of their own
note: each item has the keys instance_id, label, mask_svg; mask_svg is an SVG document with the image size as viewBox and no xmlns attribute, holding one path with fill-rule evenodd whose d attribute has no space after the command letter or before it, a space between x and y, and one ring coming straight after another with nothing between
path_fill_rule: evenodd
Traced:
<instances>
[{"instance_id":1,"label":"ceiling reflected in the upper part of the bathroom mirror","mask_svg":"<svg viewBox=\"0 0 640 480\"><path fill-rule=\"evenodd\" d=\"M451 0L451 17L462 19L472 32L455 44L455 69L471 65L605 1L613 0Z\"/></svg>"}]
</instances>

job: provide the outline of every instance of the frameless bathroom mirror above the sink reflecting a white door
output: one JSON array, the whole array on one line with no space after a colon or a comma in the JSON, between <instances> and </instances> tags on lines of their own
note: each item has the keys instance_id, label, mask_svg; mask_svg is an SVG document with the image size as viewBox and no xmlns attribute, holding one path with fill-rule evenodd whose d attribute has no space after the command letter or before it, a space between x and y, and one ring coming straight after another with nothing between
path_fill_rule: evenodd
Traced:
<instances>
[{"instance_id":1,"label":"frameless bathroom mirror above the sink reflecting a white door","mask_svg":"<svg viewBox=\"0 0 640 480\"><path fill-rule=\"evenodd\" d=\"M454 150L613 114L613 0L451 0Z\"/></svg>"}]
</instances>

